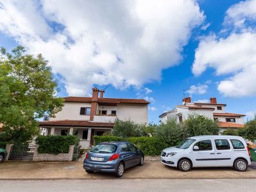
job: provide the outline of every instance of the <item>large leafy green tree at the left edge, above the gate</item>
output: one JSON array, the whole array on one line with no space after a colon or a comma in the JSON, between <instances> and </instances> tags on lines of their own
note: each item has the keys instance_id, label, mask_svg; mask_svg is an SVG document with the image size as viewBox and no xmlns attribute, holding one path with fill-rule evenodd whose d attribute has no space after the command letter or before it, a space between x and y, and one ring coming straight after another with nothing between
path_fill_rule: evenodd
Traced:
<instances>
[{"instance_id":1,"label":"large leafy green tree at the left edge, above the gate","mask_svg":"<svg viewBox=\"0 0 256 192\"><path fill-rule=\"evenodd\" d=\"M12 52L1 48L0 140L26 143L38 134L36 119L54 116L63 100L56 96L57 84L41 54L26 54L18 46Z\"/></svg>"}]
</instances>

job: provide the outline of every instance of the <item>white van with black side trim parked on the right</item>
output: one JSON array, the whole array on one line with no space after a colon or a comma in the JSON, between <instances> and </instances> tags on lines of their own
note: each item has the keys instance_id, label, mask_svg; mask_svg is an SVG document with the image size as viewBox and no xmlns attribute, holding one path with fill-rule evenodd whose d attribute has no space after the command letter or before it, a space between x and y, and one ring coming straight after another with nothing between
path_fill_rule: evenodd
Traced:
<instances>
[{"instance_id":1,"label":"white van with black side trim parked on the right","mask_svg":"<svg viewBox=\"0 0 256 192\"><path fill-rule=\"evenodd\" d=\"M195 136L175 147L165 148L161 162L188 172L192 167L234 166L245 172L250 161L250 151L239 136Z\"/></svg>"}]
</instances>

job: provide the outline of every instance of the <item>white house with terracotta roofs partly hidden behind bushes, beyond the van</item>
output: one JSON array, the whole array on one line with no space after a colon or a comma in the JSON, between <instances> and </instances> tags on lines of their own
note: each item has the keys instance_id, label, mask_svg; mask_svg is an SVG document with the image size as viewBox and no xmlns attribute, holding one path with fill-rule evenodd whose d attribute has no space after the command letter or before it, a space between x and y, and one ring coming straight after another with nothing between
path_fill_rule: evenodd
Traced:
<instances>
[{"instance_id":1,"label":"white house with terracotta roofs partly hidden behind bushes, beyond the van","mask_svg":"<svg viewBox=\"0 0 256 192\"><path fill-rule=\"evenodd\" d=\"M226 113L226 104L217 103L216 98L210 98L209 103L191 102L191 97L184 98L182 105L175 106L159 116L161 122L166 123L175 118L177 123L188 118L189 115L204 115L212 120L218 120L220 132L225 129L238 129L244 127L244 116L237 113Z\"/></svg>"}]
</instances>

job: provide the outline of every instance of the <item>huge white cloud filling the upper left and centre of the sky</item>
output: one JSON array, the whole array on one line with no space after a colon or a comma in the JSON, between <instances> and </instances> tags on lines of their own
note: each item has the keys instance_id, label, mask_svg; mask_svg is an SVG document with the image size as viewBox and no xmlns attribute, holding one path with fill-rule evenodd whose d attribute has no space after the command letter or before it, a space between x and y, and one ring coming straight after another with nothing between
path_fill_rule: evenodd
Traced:
<instances>
[{"instance_id":1,"label":"huge white cloud filling the upper left and centre of the sky","mask_svg":"<svg viewBox=\"0 0 256 192\"><path fill-rule=\"evenodd\" d=\"M161 80L204 22L195 1L0 1L0 29L42 53L69 95Z\"/></svg>"}]
</instances>

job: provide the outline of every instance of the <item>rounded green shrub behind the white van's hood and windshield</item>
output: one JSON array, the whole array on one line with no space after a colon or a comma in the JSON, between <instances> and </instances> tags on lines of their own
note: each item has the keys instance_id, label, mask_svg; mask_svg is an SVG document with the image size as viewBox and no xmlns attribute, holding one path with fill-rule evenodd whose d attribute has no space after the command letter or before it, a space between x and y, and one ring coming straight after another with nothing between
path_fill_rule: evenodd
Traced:
<instances>
[{"instance_id":1,"label":"rounded green shrub behind the white van's hood and windshield","mask_svg":"<svg viewBox=\"0 0 256 192\"><path fill-rule=\"evenodd\" d=\"M156 137L168 144L168 146L177 145L183 139L183 130L173 118L166 124L160 124L156 129Z\"/></svg>"}]
</instances>

